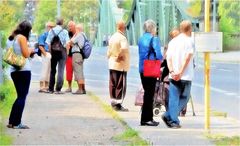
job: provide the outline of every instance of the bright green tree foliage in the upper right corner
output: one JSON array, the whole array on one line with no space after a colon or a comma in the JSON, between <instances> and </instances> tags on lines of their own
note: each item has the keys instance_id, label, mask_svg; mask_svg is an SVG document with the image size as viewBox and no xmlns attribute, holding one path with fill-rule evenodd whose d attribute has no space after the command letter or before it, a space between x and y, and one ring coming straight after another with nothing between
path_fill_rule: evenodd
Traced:
<instances>
[{"instance_id":1,"label":"bright green tree foliage in the upper right corner","mask_svg":"<svg viewBox=\"0 0 240 146\"><path fill-rule=\"evenodd\" d=\"M220 0L218 14L219 29L223 32L224 48L240 49L240 5L237 0Z\"/></svg>"}]
</instances>

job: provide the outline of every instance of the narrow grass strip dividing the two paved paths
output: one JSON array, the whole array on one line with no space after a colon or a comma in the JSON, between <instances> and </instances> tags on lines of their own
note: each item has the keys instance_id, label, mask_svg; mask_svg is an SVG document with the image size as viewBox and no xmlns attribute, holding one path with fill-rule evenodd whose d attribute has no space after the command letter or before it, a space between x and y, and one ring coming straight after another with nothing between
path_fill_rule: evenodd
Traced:
<instances>
[{"instance_id":1,"label":"narrow grass strip dividing the two paved paths","mask_svg":"<svg viewBox=\"0 0 240 146\"><path fill-rule=\"evenodd\" d=\"M114 140L127 142L128 143L127 145L130 145L130 146L135 146L135 145L137 145L137 146L149 146L150 145L147 141L143 140L139 136L137 131L135 131L134 129L129 127L127 125L127 123L121 117L119 117L117 112L112 109L111 106L102 102L99 99L99 97L94 95L92 92L88 92L88 95L90 95L90 97L95 102L100 104L103 107L105 112L109 113L114 119L119 121L125 127L126 130L122 134L116 135L115 137L113 137Z\"/></svg>"}]
</instances>

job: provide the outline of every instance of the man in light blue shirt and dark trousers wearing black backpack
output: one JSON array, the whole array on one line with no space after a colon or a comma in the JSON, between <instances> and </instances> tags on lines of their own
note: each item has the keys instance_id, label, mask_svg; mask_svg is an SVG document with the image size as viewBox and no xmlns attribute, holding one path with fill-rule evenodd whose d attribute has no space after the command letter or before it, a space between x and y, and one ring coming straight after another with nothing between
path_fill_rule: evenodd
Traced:
<instances>
[{"instance_id":1,"label":"man in light blue shirt and dark trousers wearing black backpack","mask_svg":"<svg viewBox=\"0 0 240 146\"><path fill-rule=\"evenodd\" d=\"M55 75L56 75L56 67L58 66L58 75L57 75L57 83L55 87L56 94L63 94L61 92L63 86L63 75L64 75L64 68L67 58L67 51L66 51L66 43L69 41L68 31L62 27L63 19L58 18L56 22L56 26L51 29L48 33L46 43L50 46L50 52L52 55L51 58L51 72L50 72L50 82L49 82L49 93L54 92L54 85L55 85ZM51 42L54 39L54 36L58 35L61 48L59 50L54 50L56 48L51 48ZM60 47L60 45L59 45ZM62 48L63 47L63 48Z\"/></svg>"}]
</instances>

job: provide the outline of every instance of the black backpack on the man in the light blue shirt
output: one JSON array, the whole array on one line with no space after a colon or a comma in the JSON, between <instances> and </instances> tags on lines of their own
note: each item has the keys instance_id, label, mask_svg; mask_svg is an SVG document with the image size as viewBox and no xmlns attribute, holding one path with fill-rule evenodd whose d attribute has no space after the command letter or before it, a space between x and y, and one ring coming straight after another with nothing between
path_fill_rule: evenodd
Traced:
<instances>
[{"instance_id":1,"label":"black backpack on the man in the light blue shirt","mask_svg":"<svg viewBox=\"0 0 240 146\"><path fill-rule=\"evenodd\" d=\"M52 51L63 51L64 50L62 42L61 42L61 40L58 36L62 32L62 30L60 30L59 33L56 35L54 30L52 29L52 32L53 32L53 35L54 35L53 38L52 38L52 41L51 41L51 50Z\"/></svg>"}]
</instances>

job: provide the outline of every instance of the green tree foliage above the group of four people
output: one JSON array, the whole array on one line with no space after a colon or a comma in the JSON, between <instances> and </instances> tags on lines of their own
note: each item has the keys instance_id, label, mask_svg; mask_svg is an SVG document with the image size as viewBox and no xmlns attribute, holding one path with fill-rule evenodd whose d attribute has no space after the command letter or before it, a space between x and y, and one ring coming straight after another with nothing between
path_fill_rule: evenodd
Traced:
<instances>
[{"instance_id":1,"label":"green tree foliage above the group of four people","mask_svg":"<svg viewBox=\"0 0 240 146\"><path fill-rule=\"evenodd\" d=\"M98 19L98 0L61 0L61 17L65 26L73 20L83 23L88 34L90 25L96 24ZM39 0L36 6L34 31L44 30L47 21L55 22L57 16L57 1Z\"/></svg>"}]
</instances>

